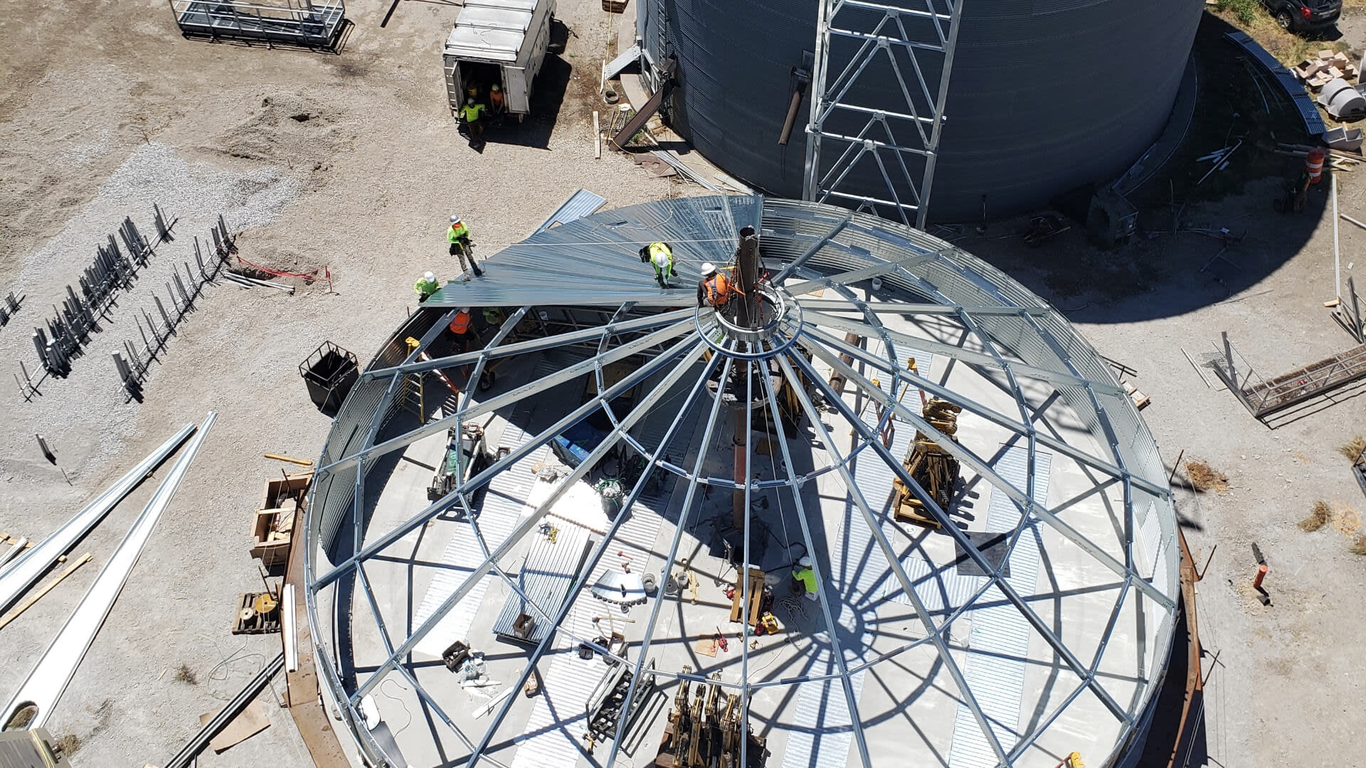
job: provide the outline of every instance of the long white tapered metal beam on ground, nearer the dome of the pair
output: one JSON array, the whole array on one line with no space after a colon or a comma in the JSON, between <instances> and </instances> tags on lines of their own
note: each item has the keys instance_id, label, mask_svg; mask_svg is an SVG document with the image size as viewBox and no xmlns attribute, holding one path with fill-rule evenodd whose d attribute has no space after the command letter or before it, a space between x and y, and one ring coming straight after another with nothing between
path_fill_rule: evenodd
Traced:
<instances>
[{"instance_id":1,"label":"long white tapered metal beam on ground, nearer the dome of the pair","mask_svg":"<svg viewBox=\"0 0 1366 768\"><path fill-rule=\"evenodd\" d=\"M105 563L104 570L100 571L94 584L90 585L85 597L81 599L76 609L67 618L57 637L52 640L52 645L42 653L33 671L29 672L29 676L10 698L10 704L0 712L0 728L12 720L15 713L29 707L33 707L36 711L27 727L41 728L48 722L52 708L61 698L61 693L66 690L67 683L71 682L71 675L75 674L81 659L85 657L90 644L94 642L94 635L100 631L100 625L109 615L113 601L119 597L124 582L128 581L133 566L138 563L138 556L142 555L142 547L152 537L152 529L156 527L161 512L171 503L176 488L180 486L180 480L184 478L190 469L190 462L194 461L195 452L204 444L204 439L209 435L209 428L213 426L219 414L209 411L194 439L186 445L184 452L171 465L171 471L167 473L165 480L161 481L156 493L148 500L148 506L143 507L142 514L134 521L128 534L119 544L119 548L113 551L109 562Z\"/></svg>"}]
</instances>

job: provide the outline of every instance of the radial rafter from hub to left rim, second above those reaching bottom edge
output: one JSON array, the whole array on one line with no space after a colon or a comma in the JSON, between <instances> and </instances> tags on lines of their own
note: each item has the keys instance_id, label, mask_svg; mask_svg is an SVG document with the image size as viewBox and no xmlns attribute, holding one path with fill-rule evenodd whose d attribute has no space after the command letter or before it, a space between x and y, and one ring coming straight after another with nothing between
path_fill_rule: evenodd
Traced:
<instances>
[{"instance_id":1,"label":"radial rafter from hub to left rim, second above those reaching bottom edge","mask_svg":"<svg viewBox=\"0 0 1366 768\"><path fill-rule=\"evenodd\" d=\"M462 484L456 491L452 491L451 493L447 493L445 496L437 499L436 502L433 502L430 506L428 506L425 510L422 510L417 515L413 515L411 518L408 518L403 523L398 525L396 527L393 527L388 533L380 536L376 541L373 541L372 544L366 545L363 549L358 551L355 555L351 555L350 558L347 558L346 560L343 560L342 563L339 563L336 567L333 567L331 571L328 571L326 574L324 574L321 578L318 578L314 582L313 590L316 592L318 588L326 586L328 584L331 584L332 581L335 581L337 577L340 577L342 574L344 574L347 570L350 570L357 562L359 562L359 560L362 560L365 558L373 556L374 553L377 553L377 552L382 551L384 548L389 547L391 544L393 544L399 538L403 538L410 532L421 527L422 525L426 523L426 521L429 521L434 515L440 514L441 510L445 510L447 507L449 507L459 497L460 493L467 493L467 492L471 492L471 491L477 491L478 488L482 488L490 480L493 480L493 477L496 477L500 471L503 471L503 470L508 469L510 466L512 466L514 463L522 461L531 451L540 448L541 445L544 445L545 443L548 443L549 440L552 440L560 432L563 432L563 430L568 429L570 426L578 424L579 421L582 421L583 418L586 418L590 413L593 413L598 407L605 406L609 400L612 400L613 398L616 398L622 392L626 392L628 388L635 387L637 384L639 384L645 379L650 377L652 374L654 374L656 370L658 370L660 368L664 368L669 361L672 361L673 358L679 357L680 354L682 355L687 355L690 353L697 353L697 348L699 346L703 346L702 342L699 342L694 335L690 335L683 342L675 344L669 351L667 351L667 353L656 357L654 359L646 362L643 366L641 366L639 369L634 370L630 376L627 376L626 379L623 379L622 381L619 381L615 387L612 387L612 388L609 388L609 389L607 389L604 392L600 392L597 398L593 398L591 400L589 400L589 402L583 403L582 406L574 409L574 411L571 411L568 415L566 415L560 421L552 424L549 428L544 429L535 437L533 437L533 439L527 440L526 443L518 445L516 448L514 448L512 451L510 451L505 456L503 456L501 459L497 459L496 462L493 462L492 465L489 465L488 467L485 467L482 471L479 471L478 474L475 474L474 477L471 477L470 480L467 480L464 484ZM687 361L684 361L684 364ZM687 365L682 365L682 370L686 370L686 369L687 369ZM675 369L675 374L678 374L678 373L679 373L679 369Z\"/></svg>"}]
</instances>

